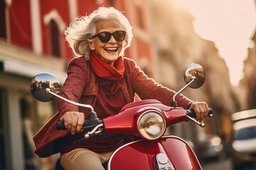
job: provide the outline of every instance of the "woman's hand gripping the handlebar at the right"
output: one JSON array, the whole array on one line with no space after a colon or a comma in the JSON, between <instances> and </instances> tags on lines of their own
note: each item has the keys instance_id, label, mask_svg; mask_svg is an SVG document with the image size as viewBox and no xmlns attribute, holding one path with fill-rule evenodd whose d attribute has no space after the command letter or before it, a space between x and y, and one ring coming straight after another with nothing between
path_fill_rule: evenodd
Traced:
<instances>
[{"instance_id":1,"label":"woman's hand gripping the handlebar at the right","mask_svg":"<svg viewBox=\"0 0 256 170\"><path fill-rule=\"evenodd\" d=\"M196 112L196 120L201 122L208 115L208 104L206 102L193 102L189 109Z\"/></svg>"}]
</instances>

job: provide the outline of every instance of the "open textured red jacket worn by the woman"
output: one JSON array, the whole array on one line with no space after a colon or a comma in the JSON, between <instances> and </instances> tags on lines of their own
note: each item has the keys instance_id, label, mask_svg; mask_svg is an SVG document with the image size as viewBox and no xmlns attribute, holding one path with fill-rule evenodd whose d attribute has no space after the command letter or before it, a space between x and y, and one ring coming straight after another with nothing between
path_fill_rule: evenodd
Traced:
<instances>
[{"instance_id":1,"label":"open textured red jacket worn by the woman","mask_svg":"<svg viewBox=\"0 0 256 170\"><path fill-rule=\"evenodd\" d=\"M171 106L174 91L160 84L157 84L154 79L149 79L137 67L134 60L124 57L124 79L121 81L121 90L128 103L134 101L135 94L138 94L142 99L156 99L164 103L166 106ZM70 99L71 101L85 103L95 106L97 99L97 79L95 73L92 72L90 62L85 60L85 57L77 57L68 65L68 77L60 92L60 96ZM188 108L191 100L182 96L176 97L178 106ZM60 116L67 111L79 111L85 113L85 118L89 113L89 109L74 106L70 103L58 99L59 112L51 118L46 125L39 130L33 137L36 145L35 153L39 157L48 157L51 154L60 152L58 142L65 135L68 135L68 130L56 130L56 124L60 120Z\"/></svg>"}]
</instances>

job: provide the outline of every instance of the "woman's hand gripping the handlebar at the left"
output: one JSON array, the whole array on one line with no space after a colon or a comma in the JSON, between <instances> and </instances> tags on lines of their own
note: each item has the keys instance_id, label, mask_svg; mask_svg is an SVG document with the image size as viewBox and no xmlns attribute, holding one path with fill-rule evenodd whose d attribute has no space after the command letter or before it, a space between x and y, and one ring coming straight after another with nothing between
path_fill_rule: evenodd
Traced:
<instances>
[{"instance_id":1,"label":"woman's hand gripping the handlebar at the left","mask_svg":"<svg viewBox=\"0 0 256 170\"><path fill-rule=\"evenodd\" d=\"M66 112L60 117L60 121L63 121L65 128L70 130L74 135L76 132L82 132L82 125L85 123L85 114L80 112Z\"/></svg>"}]
</instances>

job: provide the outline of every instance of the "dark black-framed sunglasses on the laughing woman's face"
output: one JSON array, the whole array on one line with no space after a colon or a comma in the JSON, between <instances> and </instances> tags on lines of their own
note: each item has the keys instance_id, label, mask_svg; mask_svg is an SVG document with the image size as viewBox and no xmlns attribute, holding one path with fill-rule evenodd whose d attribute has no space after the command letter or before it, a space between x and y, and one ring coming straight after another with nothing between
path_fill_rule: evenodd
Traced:
<instances>
[{"instance_id":1,"label":"dark black-framed sunglasses on the laughing woman's face","mask_svg":"<svg viewBox=\"0 0 256 170\"><path fill-rule=\"evenodd\" d=\"M121 42L124 40L126 35L126 32L124 30L117 30L114 33L109 33L107 31L102 32L102 33L98 33L96 35L93 35L91 38L95 38L98 37L100 39L101 42L106 43L110 41L110 38L113 36L114 40L116 40L117 42Z\"/></svg>"}]
</instances>

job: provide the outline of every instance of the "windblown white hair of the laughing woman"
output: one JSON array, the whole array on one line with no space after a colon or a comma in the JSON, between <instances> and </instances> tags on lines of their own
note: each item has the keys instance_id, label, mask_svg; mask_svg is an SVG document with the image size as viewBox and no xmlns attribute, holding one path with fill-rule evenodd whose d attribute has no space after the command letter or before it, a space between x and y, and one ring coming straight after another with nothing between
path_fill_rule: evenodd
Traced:
<instances>
[{"instance_id":1,"label":"windblown white hair of the laughing woman","mask_svg":"<svg viewBox=\"0 0 256 170\"><path fill-rule=\"evenodd\" d=\"M121 24L127 35L120 55L131 45L132 26L122 12L113 7L100 7L90 13L89 16L76 17L65 30L65 40L68 41L75 55L90 57L89 38L96 33L96 23L99 21L114 20Z\"/></svg>"}]
</instances>

